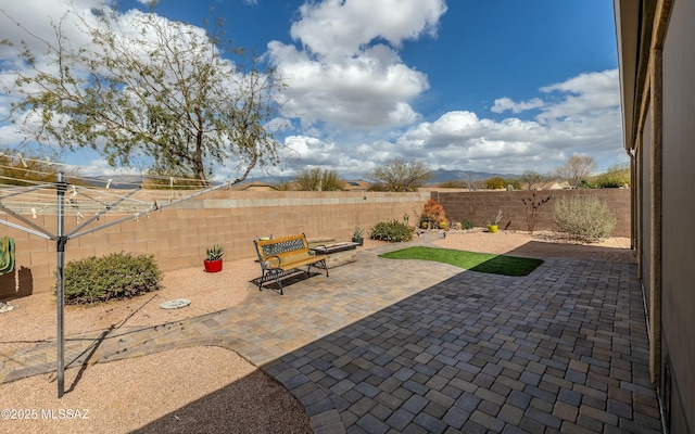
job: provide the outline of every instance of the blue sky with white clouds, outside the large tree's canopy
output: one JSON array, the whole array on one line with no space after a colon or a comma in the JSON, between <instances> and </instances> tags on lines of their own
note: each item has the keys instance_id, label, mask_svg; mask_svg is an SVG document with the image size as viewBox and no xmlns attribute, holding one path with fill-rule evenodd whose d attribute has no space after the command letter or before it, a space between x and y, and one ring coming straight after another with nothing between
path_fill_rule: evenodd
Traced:
<instances>
[{"instance_id":1,"label":"blue sky with white clouds, outside the large tree's canopy","mask_svg":"<svg viewBox=\"0 0 695 434\"><path fill-rule=\"evenodd\" d=\"M73 0L85 13L98 2ZM41 35L68 7L0 0ZM361 179L394 158L509 175L551 173L573 154L594 157L599 173L628 162L611 1L161 0L154 13L201 26L211 7L235 43L265 55L288 85L289 128L277 136L288 152L251 177L320 167ZM15 31L0 15L0 40ZM0 119L12 98L0 92ZM0 146L16 144L13 128L0 123ZM111 173L92 152L63 158ZM231 167L217 178L235 176Z\"/></svg>"}]
</instances>

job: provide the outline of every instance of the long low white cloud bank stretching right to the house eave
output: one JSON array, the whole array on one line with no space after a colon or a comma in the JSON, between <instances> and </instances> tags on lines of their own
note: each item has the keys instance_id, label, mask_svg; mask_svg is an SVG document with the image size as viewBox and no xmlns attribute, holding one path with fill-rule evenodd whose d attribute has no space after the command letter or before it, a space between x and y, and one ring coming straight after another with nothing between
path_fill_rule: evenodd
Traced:
<instances>
[{"instance_id":1,"label":"long low white cloud bank stretching right to the house eave","mask_svg":"<svg viewBox=\"0 0 695 434\"><path fill-rule=\"evenodd\" d=\"M365 137L351 142L353 137L336 137L330 153L321 151L325 144L320 140L313 142L304 137L306 148L301 157L316 163L313 150L317 149L319 155L329 158L321 159L323 167L348 178L359 178L368 168L393 157L422 161L432 168L502 174L527 169L547 173L574 153L592 155L599 162L626 159L620 145L615 71L582 74L544 87L541 93L527 103L497 100L498 107L508 110L538 108L541 113L535 118L496 120L470 111L451 111L431 122L413 124L389 141Z\"/></svg>"}]
</instances>

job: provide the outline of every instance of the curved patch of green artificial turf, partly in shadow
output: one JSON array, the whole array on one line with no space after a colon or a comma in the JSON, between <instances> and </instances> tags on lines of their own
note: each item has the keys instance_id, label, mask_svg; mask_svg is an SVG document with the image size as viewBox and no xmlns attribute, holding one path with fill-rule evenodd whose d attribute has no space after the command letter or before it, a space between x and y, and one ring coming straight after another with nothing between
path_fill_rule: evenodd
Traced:
<instances>
[{"instance_id":1,"label":"curved patch of green artificial turf, partly in shadow","mask_svg":"<svg viewBox=\"0 0 695 434\"><path fill-rule=\"evenodd\" d=\"M543 264L543 260L534 258L422 246L389 252L379 255L379 257L389 259L433 260L437 263L451 264L470 271L502 276L527 276Z\"/></svg>"}]
</instances>

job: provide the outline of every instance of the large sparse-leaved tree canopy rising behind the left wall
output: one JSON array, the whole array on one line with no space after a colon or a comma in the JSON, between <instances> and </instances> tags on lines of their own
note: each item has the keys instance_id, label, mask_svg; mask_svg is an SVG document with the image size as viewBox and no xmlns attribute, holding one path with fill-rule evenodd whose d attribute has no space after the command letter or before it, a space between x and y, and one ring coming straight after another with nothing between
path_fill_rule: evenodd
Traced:
<instances>
[{"instance_id":1,"label":"large sparse-leaved tree canopy rising behind the left wall","mask_svg":"<svg viewBox=\"0 0 695 434\"><path fill-rule=\"evenodd\" d=\"M283 82L224 39L220 21L206 31L152 13L126 22L104 4L88 16L70 10L49 40L8 17L27 39L2 42L14 59L0 63L15 65L3 87L20 95L12 115L29 140L91 148L112 166L142 158L204 183L215 164L236 165L241 181L256 164L279 162L268 126ZM75 25L89 43L67 37ZM46 58L37 61L27 40L42 44Z\"/></svg>"}]
</instances>

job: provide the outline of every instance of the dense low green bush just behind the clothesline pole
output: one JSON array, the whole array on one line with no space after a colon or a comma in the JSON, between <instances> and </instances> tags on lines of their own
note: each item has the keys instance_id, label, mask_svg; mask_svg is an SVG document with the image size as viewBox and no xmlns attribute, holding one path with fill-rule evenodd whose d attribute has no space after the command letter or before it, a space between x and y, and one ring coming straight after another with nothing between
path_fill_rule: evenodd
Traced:
<instances>
[{"instance_id":1,"label":"dense low green bush just behind the clothesline pole","mask_svg":"<svg viewBox=\"0 0 695 434\"><path fill-rule=\"evenodd\" d=\"M161 288L162 271L153 255L113 253L66 264L63 293L68 305L131 298Z\"/></svg>"}]
</instances>

